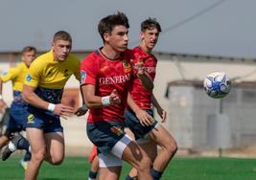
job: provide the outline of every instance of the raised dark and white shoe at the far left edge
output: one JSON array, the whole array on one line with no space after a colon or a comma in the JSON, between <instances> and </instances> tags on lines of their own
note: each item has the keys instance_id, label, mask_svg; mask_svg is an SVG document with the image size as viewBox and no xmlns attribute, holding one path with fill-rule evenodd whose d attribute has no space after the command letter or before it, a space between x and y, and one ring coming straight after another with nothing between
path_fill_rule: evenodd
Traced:
<instances>
[{"instance_id":1,"label":"raised dark and white shoe at the far left edge","mask_svg":"<svg viewBox=\"0 0 256 180\"><path fill-rule=\"evenodd\" d=\"M14 134L12 137L12 141L9 142L8 146L4 149L2 153L2 160L6 161L12 154L17 149L17 145L19 140L24 138L21 134Z\"/></svg>"}]
</instances>

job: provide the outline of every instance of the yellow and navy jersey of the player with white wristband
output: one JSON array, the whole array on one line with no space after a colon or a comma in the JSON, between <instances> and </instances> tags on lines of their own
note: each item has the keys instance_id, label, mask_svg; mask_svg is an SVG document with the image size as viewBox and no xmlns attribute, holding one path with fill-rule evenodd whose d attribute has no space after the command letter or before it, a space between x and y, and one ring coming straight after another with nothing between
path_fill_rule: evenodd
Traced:
<instances>
[{"instance_id":1,"label":"yellow and navy jersey of the player with white wristband","mask_svg":"<svg viewBox=\"0 0 256 180\"><path fill-rule=\"evenodd\" d=\"M67 80L75 75L80 80L80 60L68 56L65 61L54 60L50 51L35 58L30 66L24 84L35 87L35 94L44 101L59 103Z\"/></svg>"}]
</instances>

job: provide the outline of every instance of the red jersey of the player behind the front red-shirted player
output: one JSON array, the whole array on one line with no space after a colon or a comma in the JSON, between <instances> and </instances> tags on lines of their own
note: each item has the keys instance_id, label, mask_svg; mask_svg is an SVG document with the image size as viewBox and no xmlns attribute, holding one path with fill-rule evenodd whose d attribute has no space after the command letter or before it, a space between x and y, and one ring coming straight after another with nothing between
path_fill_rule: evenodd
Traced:
<instances>
[{"instance_id":1,"label":"red jersey of the player behind the front red-shirted player","mask_svg":"<svg viewBox=\"0 0 256 180\"><path fill-rule=\"evenodd\" d=\"M146 68L146 71L151 76L151 79L153 80L155 77L155 69L156 69L156 63L157 63L156 57L153 56L152 54L148 54L140 47L135 47L132 51L135 56L133 63L136 63L139 58L142 58L144 61L144 66ZM133 79L133 83L129 90L129 93L133 101L135 101L136 104L141 109L151 108L152 92L146 91L146 89L143 87L142 83L138 78L135 77Z\"/></svg>"}]
</instances>

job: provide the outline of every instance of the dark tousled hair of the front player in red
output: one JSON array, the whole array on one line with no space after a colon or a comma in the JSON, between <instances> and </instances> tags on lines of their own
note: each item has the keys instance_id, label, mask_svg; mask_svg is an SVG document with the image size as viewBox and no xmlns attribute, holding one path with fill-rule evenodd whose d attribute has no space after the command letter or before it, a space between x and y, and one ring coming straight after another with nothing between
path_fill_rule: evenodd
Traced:
<instances>
[{"instance_id":1,"label":"dark tousled hair of the front player in red","mask_svg":"<svg viewBox=\"0 0 256 180\"><path fill-rule=\"evenodd\" d=\"M115 14L107 15L101 19L98 25L98 32L104 42L104 34L111 34L115 26L125 26L126 28L129 28L128 17L125 13L118 11Z\"/></svg>"}]
</instances>

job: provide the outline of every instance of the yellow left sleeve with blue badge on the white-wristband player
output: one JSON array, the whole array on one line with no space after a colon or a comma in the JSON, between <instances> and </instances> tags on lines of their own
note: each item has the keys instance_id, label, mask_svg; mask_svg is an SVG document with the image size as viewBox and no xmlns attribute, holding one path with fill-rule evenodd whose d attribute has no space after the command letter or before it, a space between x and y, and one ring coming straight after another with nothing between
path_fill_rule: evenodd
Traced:
<instances>
[{"instance_id":1,"label":"yellow left sleeve with blue badge on the white-wristband player","mask_svg":"<svg viewBox=\"0 0 256 180\"><path fill-rule=\"evenodd\" d=\"M42 74L42 68L43 68L42 64L37 63L35 59L35 61L31 64L29 68L28 74L25 77L24 84L37 87L40 76Z\"/></svg>"}]
</instances>

